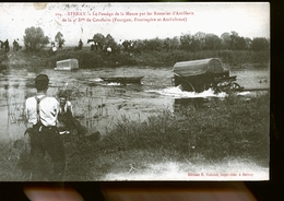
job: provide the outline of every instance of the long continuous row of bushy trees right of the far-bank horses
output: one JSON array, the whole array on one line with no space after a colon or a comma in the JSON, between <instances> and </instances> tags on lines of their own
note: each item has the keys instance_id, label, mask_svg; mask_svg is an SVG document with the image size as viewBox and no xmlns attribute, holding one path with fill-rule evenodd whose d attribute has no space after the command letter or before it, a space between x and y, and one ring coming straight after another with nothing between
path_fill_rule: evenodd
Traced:
<instances>
[{"instance_id":1,"label":"long continuous row of bushy trees right of the far-bank horses","mask_svg":"<svg viewBox=\"0 0 284 201\"><path fill-rule=\"evenodd\" d=\"M106 47L116 47L116 44L106 43ZM120 47L121 49L121 47ZM141 52L145 50L252 50L261 51L270 49L270 40L264 37L253 39L238 36L236 32L224 33L221 37L214 34L197 33L194 35L185 34L180 37L166 39L138 39L125 40L122 49L127 51Z\"/></svg>"}]
</instances>

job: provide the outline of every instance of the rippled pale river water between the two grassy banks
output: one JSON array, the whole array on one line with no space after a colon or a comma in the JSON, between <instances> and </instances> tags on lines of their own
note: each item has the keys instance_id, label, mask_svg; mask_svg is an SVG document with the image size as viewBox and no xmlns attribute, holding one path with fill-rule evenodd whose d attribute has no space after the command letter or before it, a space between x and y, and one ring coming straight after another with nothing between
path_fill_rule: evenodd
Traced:
<instances>
[{"instance_id":1,"label":"rippled pale river water between the two grassy banks","mask_svg":"<svg viewBox=\"0 0 284 201\"><path fill-rule=\"evenodd\" d=\"M60 88L70 90L74 116L85 126L102 133L117 121L144 120L163 109L174 110L185 99L223 98L226 94L206 91L200 94L181 92L171 85L171 68L114 68L79 70L76 72L45 70L50 78L48 95ZM144 76L141 84L105 83L100 76ZM269 87L270 72L265 70L235 70L237 83L245 88ZM23 120L25 97L35 94L35 73L25 70L0 75L0 139L19 138L26 128ZM244 92L250 96L256 92ZM194 102L194 103L196 103ZM181 104L182 105L182 104Z\"/></svg>"}]
</instances>

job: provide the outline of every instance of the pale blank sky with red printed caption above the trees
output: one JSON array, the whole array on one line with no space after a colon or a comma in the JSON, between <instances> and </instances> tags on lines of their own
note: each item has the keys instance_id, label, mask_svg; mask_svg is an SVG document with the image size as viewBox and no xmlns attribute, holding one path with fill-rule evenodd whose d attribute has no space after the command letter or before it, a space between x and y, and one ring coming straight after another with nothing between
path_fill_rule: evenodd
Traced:
<instances>
[{"instance_id":1,"label":"pale blank sky with red printed caption above the trees","mask_svg":"<svg viewBox=\"0 0 284 201\"><path fill-rule=\"evenodd\" d=\"M269 2L153 3L0 3L0 40L12 42L27 27L42 27L50 40L58 32L66 45L78 45L94 34L125 39L173 38L198 32L236 32L242 37L270 38Z\"/></svg>"}]
</instances>

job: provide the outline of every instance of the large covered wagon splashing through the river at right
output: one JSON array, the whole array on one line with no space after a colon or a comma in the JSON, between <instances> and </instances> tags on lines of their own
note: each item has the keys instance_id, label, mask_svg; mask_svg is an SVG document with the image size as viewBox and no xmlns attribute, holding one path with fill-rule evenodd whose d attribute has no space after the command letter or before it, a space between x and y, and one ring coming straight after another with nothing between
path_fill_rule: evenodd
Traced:
<instances>
[{"instance_id":1,"label":"large covered wagon splashing through the river at right","mask_svg":"<svg viewBox=\"0 0 284 201\"><path fill-rule=\"evenodd\" d=\"M182 91L203 92L212 88L215 93L241 91L236 83L237 76L229 76L229 71L217 58L180 61L174 64L175 86Z\"/></svg>"}]
</instances>

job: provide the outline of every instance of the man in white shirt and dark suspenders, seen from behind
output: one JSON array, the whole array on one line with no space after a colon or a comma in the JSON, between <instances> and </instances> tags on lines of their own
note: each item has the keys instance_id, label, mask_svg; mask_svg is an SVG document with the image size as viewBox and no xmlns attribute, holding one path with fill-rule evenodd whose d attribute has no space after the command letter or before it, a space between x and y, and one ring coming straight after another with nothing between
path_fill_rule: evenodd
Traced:
<instances>
[{"instance_id":1,"label":"man in white shirt and dark suspenders, seen from behind","mask_svg":"<svg viewBox=\"0 0 284 201\"><path fill-rule=\"evenodd\" d=\"M66 168L66 154L61 135L57 128L59 103L55 97L48 97L49 79L46 74L39 74L35 79L37 94L28 97L25 103L26 117L33 125L31 134L31 155L33 165L32 180L61 181ZM46 152L51 157L54 173L45 173Z\"/></svg>"}]
</instances>

